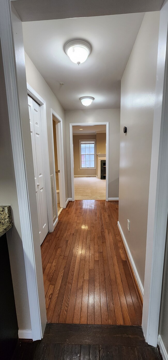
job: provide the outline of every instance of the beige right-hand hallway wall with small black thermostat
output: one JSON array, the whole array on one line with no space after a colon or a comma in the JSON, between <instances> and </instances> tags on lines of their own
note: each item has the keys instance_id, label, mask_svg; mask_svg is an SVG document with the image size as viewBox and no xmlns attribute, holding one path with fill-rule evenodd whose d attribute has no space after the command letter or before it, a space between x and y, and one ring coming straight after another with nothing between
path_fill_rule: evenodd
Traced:
<instances>
[{"instance_id":1,"label":"beige right-hand hallway wall with small black thermostat","mask_svg":"<svg viewBox=\"0 0 168 360\"><path fill-rule=\"evenodd\" d=\"M159 12L145 13L121 80L119 223L144 285ZM127 126L127 134L123 127ZM127 230L130 220L130 232Z\"/></svg>"}]
</instances>

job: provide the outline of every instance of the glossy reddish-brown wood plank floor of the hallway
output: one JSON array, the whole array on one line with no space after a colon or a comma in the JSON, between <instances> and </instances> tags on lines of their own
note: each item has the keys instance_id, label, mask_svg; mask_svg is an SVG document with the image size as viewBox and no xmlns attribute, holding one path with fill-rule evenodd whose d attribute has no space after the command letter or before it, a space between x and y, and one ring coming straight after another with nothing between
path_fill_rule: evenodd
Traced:
<instances>
[{"instance_id":1,"label":"glossy reddish-brown wood plank floor of the hallway","mask_svg":"<svg viewBox=\"0 0 168 360\"><path fill-rule=\"evenodd\" d=\"M141 325L142 303L117 227L118 203L69 202L41 246L49 323Z\"/></svg>"}]
</instances>

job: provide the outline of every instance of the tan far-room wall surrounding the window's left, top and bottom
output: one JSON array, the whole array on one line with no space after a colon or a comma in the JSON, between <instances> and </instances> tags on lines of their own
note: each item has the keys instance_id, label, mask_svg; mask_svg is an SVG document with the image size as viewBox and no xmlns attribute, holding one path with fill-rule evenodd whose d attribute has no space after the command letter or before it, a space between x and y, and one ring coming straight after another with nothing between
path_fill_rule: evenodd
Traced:
<instances>
[{"instance_id":1,"label":"tan far-room wall surrounding the window's left, top and bottom","mask_svg":"<svg viewBox=\"0 0 168 360\"><path fill-rule=\"evenodd\" d=\"M73 135L74 175L96 176L96 169L80 169L80 143L79 140L95 139L96 135Z\"/></svg>"}]
</instances>

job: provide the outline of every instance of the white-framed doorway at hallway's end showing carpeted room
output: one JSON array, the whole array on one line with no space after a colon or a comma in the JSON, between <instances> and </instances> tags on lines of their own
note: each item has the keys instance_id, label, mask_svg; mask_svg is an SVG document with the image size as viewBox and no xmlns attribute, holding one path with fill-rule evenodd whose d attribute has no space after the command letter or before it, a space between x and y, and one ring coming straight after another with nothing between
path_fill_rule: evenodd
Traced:
<instances>
[{"instance_id":1,"label":"white-framed doorway at hallway's end showing carpeted room","mask_svg":"<svg viewBox=\"0 0 168 360\"><path fill-rule=\"evenodd\" d=\"M70 124L72 200L108 201L109 124Z\"/></svg>"}]
</instances>

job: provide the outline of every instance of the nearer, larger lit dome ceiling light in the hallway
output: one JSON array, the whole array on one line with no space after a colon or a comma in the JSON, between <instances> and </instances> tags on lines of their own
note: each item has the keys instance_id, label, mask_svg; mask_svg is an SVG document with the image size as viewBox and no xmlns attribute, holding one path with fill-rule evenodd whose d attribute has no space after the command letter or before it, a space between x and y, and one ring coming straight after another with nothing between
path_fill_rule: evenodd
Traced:
<instances>
[{"instance_id":1,"label":"nearer, larger lit dome ceiling light in the hallway","mask_svg":"<svg viewBox=\"0 0 168 360\"><path fill-rule=\"evenodd\" d=\"M91 53L91 45L86 40L74 39L64 45L64 51L73 63L79 65L84 63Z\"/></svg>"}]
</instances>

